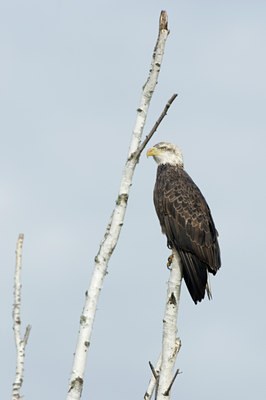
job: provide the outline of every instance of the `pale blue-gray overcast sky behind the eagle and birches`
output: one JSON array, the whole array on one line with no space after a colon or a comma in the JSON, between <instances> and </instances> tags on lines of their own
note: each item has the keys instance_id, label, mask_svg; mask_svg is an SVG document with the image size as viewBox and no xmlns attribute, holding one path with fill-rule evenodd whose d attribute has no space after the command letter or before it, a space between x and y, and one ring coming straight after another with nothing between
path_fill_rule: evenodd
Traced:
<instances>
[{"instance_id":1,"label":"pale blue-gray overcast sky behind the eagle and birches","mask_svg":"<svg viewBox=\"0 0 266 400\"><path fill-rule=\"evenodd\" d=\"M166 9L171 30L145 134L170 141L220 233L213 300L179 311L173 398L265 399L266 3L0 1L1 398L15 374L13 273L25 234L25 399L66 396L79 317L114 207ZM84 399L143 398L161 346L169 250L153 160L134 175L89 350ZM51 388L52 394L51 394Z\"/></svg>"}]
</instances>

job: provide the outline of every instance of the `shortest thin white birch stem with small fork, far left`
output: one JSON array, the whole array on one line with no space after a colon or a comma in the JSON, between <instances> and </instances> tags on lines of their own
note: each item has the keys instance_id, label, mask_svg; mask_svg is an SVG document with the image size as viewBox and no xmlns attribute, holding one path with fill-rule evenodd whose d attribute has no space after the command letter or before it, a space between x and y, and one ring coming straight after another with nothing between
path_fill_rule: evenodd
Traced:
<instances>
[{"instance_id":1,"label":"shortest thin white birch stem with small fork, far left","mask_svg":"<svg viewBox=\"0 0 266 400\"><path fill-rule=\"evenodd\" d=\"M14 308L13 308L13 330L17 348L17 362L16 362L16 377L13 383L12 400L20 399L20 389L23 382L24 370L24 357L25 347L30 334L31 326L28 325L24 338L21 338L21 318L20 318L20 305L21 305L21 265L22 265L22 245L24 235L20 234L17 241L16 248L16 270L15 270L15 283L14 283Z\"/></svg>"}]
</instances>

